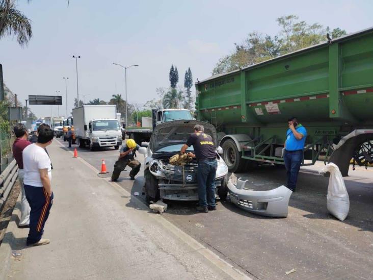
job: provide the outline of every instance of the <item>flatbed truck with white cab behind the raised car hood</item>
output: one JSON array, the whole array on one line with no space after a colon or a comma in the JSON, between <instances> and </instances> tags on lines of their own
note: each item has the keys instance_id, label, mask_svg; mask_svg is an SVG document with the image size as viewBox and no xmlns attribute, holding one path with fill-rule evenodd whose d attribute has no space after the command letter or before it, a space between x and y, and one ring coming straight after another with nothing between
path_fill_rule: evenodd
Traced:
<instances>
[{"instance_id":1,"label":"flatbed truck with white cab behind the raised car hood","mask_svg":"<svg viewBox=\"0 0 373 280\"><path fill-rule=\"evenodd\" d=\"M130 139L134 139L141 146L142 142L149 142L150 136L155 128L155 125L171 120L186 119L192 120L193 116L188 109L153 109L152 111L152 126L142 128L128 128L124 133Z\"/></svg>"}]
</instances>

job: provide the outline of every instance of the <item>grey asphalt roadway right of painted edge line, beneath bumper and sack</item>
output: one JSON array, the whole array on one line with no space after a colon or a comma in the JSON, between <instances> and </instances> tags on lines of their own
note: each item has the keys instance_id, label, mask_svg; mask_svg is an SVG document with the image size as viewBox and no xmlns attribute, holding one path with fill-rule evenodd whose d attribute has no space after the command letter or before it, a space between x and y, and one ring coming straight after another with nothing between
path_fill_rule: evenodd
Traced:
<instances>
[{"instance_id":1,"label":"grey asphalt roadway right of painted edge line, beneath bumper and sack","mask_svg":"<svg viewBox=\"0 0 373 280\"><path fill-rule=\"evenodd\" d=\"M93 152L77 149L80 157L97 168L104 159L109 171L118 158L114 148ZM143 162L142 155L138 155L138 159ZM219 202L218 210L209 213L197 213L192 202L166 201L169 208L164 217L252 278L371 278L373 168L358 167L345 177L350 213L341 222L328 213L329 179L317 173L322 166L318 163L302 167L297 192L290 197L287 218L256 216L228 201ZM129 180L128 172L127 168L121 173L118 184L131 193L139 192L144 199L142 169L135 181ZM248 179L258 190L275 188L285 182L284 169L270 165L238 176ZM285 274L293 268L296 272Z\"/></svg>"}]
</instances>

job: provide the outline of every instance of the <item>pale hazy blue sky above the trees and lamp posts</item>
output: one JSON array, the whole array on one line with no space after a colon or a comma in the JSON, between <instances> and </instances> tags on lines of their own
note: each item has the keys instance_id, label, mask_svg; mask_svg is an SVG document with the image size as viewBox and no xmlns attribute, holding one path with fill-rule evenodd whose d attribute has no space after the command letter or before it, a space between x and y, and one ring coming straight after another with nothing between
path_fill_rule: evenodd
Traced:
<instances>
[{"instance_id":1,"label":"pale hazy blue sky above the trees and lamp posts","mask_svg":"<svg viewBox=\"0 0 373 280\"><path fill-rule=\"evenodd\" d=\"M194 82L210 77L219 58L253 31L275 35L276 18L295 14L308 23L339 27L348 33L373 27L372 1L189 0L18 0L18 9L32 20L33 38L20 47L13 37L0 40L4 82L24 104L28 95L62 95L63 105L37 106L38 117L66 115L76 98L78 59L79 99L108 101L124 94L145 104L155 88L168 87L171 64L183 86L188 67ZM193 88L194 90L194 88ZM56 92L57 91L57 92ZM60 91L60 92L58 92Z\"/></svg>"}]
</instances>

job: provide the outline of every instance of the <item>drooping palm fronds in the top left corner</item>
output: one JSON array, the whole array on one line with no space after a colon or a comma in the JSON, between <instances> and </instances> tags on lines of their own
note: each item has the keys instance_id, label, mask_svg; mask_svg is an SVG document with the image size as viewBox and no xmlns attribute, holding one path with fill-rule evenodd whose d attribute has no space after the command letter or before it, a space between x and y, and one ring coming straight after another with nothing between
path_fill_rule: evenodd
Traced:
<instances>
[{"instance_id":1,"label":"drooping palm fronds in the top left corner","mask_svg":"<svg viewBox=\"0 0 373 280\"><path fill-rule=\"evenodd\" d=\"M0 0L0 39L6 35L17 36L21 46L27 45L33 35L30 19L16 9L15 0Z\"/></svg>"}]
</instances>

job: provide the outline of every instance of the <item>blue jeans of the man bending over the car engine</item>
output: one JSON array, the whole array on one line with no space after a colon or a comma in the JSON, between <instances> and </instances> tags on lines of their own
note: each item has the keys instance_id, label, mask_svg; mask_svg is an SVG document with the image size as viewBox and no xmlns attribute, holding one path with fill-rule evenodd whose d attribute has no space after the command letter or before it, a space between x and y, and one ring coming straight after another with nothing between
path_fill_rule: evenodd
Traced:
<instances>
[{"instance_id":1,"label":"blue jeans of the man bending over the car engine","mask_svg":"<svg viewBox=\"0 0 373 280\"><path fill-rule=\"evenodd\" d=\"M215 176L218 161L216 159L202 159L198 161L197 182L199 206L215 206Z\"/></svg>"}]
</instances>

